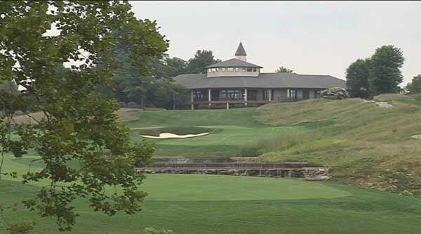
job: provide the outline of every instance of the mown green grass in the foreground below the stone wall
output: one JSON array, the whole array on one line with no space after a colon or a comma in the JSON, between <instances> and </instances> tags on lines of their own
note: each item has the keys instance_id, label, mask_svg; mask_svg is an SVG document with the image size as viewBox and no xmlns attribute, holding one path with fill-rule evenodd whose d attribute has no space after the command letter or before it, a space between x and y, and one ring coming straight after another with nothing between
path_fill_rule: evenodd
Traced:
<instances>
[{"instance_id":1,"label":"mown green grass in the foreground below the stone wall","mask_svg":"<svg viewBox=\"0 0 421 234\"><path fill-rule=\"evenodd\" d=\"M176 184L175 184L176 183ZM177 186L179 185L179 186ZM0 181L0 204L33 197L39 187ZM181 233L418 233L421 200L333 183L276 178L153 175L144 187L143 211L109 217L85 200L72 233L143 233L147 226ZM191 192L191 193L189 193ZM34 213L6 209L6 221L31 220ZM36 233L58 233L52 219L38 219ZM0 222L0 233L6 233Z\"/></svg>"}]
</instances>

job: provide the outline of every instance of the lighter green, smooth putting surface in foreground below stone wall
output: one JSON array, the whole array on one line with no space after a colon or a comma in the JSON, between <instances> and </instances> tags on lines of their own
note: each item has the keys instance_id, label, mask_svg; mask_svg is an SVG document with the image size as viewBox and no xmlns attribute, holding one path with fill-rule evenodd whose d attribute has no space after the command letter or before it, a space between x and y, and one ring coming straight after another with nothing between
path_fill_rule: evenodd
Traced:
<instances>
[{"instance_id":1,"label":"lighter green, smooth putting surface in foreground below stone wall","mask_svg":"<svg viewBox=\"0 0 421 234\"><path fill-rule=\"evenodd\" d=\"M235 201L334 198L351 195L323 183L217 175L148 175L147 200Z\"/></svg>"}]
</instances>

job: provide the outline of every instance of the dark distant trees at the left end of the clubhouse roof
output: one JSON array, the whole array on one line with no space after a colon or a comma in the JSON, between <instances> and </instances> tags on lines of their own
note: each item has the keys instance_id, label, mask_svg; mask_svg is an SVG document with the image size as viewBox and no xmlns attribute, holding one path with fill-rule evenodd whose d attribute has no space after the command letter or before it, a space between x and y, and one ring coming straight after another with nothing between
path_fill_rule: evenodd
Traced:
<instances>
[{"instance_id":1,"label":"dark distant trees at the left end of the clubhouse roof","mask_svg":"<svg viewBox=\"0 0 421 234\"><path fill-rule=\"evenodd\" d=\"M128 46L130 48L130 46ZM207 65L217 63L212 51L198 50L193 58L182 58L168 55L154 58L150 63L151 72L145 74L131 65L125 50L117 52L116 57L121 67L114 74L113 85L100 87L102 93L115 96L119 102L134 102L141 106L156 106L159 108L175 108L187 95L182 86L175 84L172 77L178 74L204 72Z\"/></svg>"}]
</instances>

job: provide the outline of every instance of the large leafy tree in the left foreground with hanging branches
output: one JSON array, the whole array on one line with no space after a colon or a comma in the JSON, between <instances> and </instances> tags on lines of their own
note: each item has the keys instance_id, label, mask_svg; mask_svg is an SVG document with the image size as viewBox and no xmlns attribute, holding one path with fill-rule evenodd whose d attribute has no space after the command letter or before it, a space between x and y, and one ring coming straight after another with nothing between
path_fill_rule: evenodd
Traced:
<instances>
[{"instance_id":1,"label":"large leafy tree in the left foreground with hanging branches","mask_svg":"<svg viewBox=\"0 0 421 234\"><path fill-rule=\"evenodd\" d=\"M72 229L78 214L71 203L79 197L110 216L139 212L147 194L140 191L145 176L134 167L147 164L154 147L131 143L114 114L117 103L95 87L111 83L121 65L114 56L119 39L133 44L127 53L135 70L151 73L153 58L168 48L156 22L137 20L127 1L0 1L0 18L1 82L25 88L18 96L1 96L0 105L44 112L35 124L13 128L4 121L11 113L0 116L1 157L31 150L45 165L22 176L23 183L48 181L23 201L25 207L54 217L59 230ZM53 25L58 33L46 34ZM116 37L116 31L126 33ZM77 63L56 69L68 61ZM11 138L12 130L19 137ZM0 176L11 175L0 164Z\"/></svg>"}]
</instances>

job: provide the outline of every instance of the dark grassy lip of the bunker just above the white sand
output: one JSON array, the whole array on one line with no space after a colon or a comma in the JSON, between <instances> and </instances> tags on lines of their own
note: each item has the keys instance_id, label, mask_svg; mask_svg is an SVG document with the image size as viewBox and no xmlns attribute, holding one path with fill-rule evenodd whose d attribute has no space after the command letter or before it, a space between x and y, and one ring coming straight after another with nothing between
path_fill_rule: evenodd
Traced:
<instances>
[{"instance_id":1,"label":"dark grassy lip of the bunker just above the white sand","mask_svg":"<svg viewBox=\"0 0 421 234\"><path fill-rule=\"evenodd\" d=\"M177 135L187 135L187 134L203 134L210 133L215 134L223 131L222 129L211 129L206 127L199 126L168 126L160 128L150 128L150 129L137 129L136 133L139 135L146 136L159 136L159 134L170 133Z\"/></svg>"}]
</instances>

